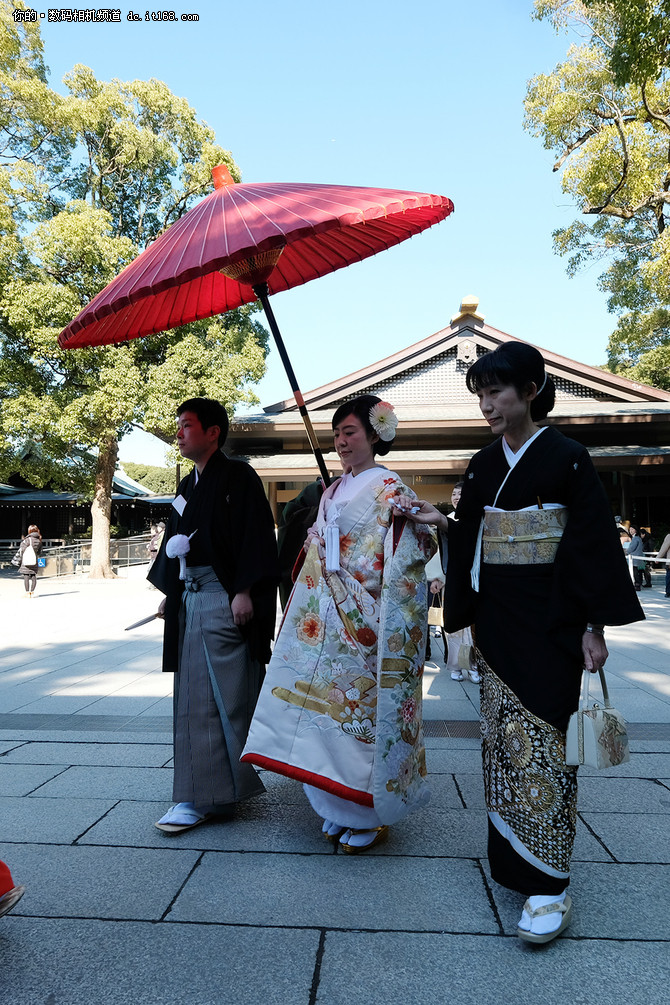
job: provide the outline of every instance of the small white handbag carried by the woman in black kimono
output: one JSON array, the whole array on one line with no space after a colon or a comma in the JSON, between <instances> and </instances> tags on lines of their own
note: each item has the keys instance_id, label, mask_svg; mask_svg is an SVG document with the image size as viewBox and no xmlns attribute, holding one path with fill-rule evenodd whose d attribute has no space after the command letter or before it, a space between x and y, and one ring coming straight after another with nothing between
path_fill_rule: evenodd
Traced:
<instances>
[{"instance_id":1,"label":"small white handbag carried by the woman in black kimono","mask_svg":"<svg viewBox=\"0 0 670 1005\"><path fill-rule=\"evenodd\" d=\"M591 768L614 768L631 760L626 723L620 712L612 707L605 680L605 671L599 674L603 687L604 703L589 700L591 671L585 670L582 702L570 717L566 737L566 764L588 765Z\"/></svg>"}]
</instances>

